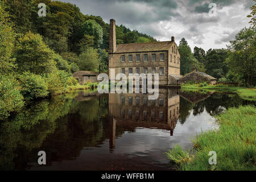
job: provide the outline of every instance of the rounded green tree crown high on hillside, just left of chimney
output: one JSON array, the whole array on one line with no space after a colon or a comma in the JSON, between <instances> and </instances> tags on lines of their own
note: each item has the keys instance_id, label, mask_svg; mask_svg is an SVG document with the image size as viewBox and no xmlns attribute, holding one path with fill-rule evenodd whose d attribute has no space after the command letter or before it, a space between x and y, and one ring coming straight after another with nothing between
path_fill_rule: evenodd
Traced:
<instances>
[{"instance_id":1,"label":"rounded green tree crown high on hillside, just left of chimney","mask_svg":"<svg viewBox=\"0 0 256 182\"><path fill-rule=\"evenodd\" d=\"M100 24L93 19L89 19L82 24L82 32L86 35L93 36L94 48L100 47L103 42L103 30Z\"/></svg>"}]
</instances>

